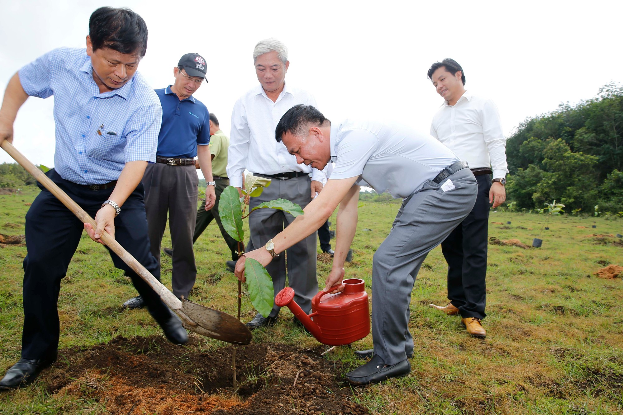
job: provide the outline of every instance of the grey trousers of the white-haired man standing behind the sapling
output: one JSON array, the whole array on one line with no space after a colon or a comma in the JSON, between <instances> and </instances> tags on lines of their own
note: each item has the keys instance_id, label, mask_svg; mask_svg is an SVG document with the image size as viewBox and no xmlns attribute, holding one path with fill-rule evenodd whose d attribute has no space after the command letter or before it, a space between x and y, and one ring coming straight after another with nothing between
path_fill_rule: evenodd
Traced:
<instances>
[{"instance_id":1,"label":"grey trousers of the white-haired man standing behind the sapling","mask_svg":"<svg viewBox=\"0 0 623 415\"><path fill-rule=\"evenodd\" d=\"M257 173L256 173L257 174ZM259 174L257 174L259 176ZM250 209L262 202L272 199L287 199L300 205L303 209L312 201L312 179L309 176L300 176L288 180L272 179L270 186L264 192L251 198ZM265 246L270 238L276 236L283 228L287 227L294 217L277 209L257 209L249 216L249 228L251 240L249 246L260 248ZM312 297L318 293L318 280L316 280L316 232L282 252L266 266L273 280L275 295L285 287L286 257L288 269L288 283L294 290L294 301L310 313L312 310ZM273 305L270 317L276 317L280 307ZM267 317L267 316L265 316Z\"/></svg>"}]
</instances>

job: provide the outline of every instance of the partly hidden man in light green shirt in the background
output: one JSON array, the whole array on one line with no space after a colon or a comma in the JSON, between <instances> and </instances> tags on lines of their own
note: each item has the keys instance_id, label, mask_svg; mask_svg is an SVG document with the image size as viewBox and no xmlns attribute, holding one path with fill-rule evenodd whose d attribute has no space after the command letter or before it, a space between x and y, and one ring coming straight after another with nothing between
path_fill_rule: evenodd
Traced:
<instances>
[{"instance_id":1,"label":"partly hidden man in light green shirt in the background","mask_svg":"<svg viewBox=\"0 0 623 415\"><path fill-rule=\"evenodd\" d=\"M238 242L234 238L229 236L221 223L221 216L219 216L219 199L223 190L229 186L229 178L227 177L227 148L229 148L229 137L221 131L219 126L219 120L214 113L210 113L210 154L212 156L212 178L216 182L214 191L216 192L216 203L212 209L206 209L206 201L201 201L201 206L197 209L197 221L195 224L195 232L193 235L193 244L199 236L206 230L206 227L212 222L212 219L216 220L221 234L229 250L232 253L232 260L227 261L227 267L233 272L235 267L235 261L238 260ZM200 168L199 161L197 160L196 168ZM241 246L244 249L244 246ZM172 256L173 249L164 248L164 253Z\"/></svg>"}]
</instances>

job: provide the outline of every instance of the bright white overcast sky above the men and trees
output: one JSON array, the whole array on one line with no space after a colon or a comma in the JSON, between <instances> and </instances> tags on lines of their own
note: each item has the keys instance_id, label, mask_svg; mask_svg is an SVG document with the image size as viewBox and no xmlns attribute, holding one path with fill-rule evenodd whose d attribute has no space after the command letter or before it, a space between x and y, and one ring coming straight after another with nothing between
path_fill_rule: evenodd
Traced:
<instances>
[{"instance_id":1,"label":"bright white overcast sky above the men and trees","mask_svg":"<svg viewBox=\"0 0 623 415\"><path fill-rule=\"evenodd\" d=\"M130 7L145 19L148 48L138 68L153 88L173 82L188 52L207 61L195 96L229 135L237 98L258 84L255 44L284 42L286 83L312 93L333 121L373 118L429 131L443 100L426 73L451 57L466 88L492 98L505 135L527 117L623 82L620 32L609 16L621 1L91 1L0 0L0 94L19 68L56 47L85 47L100 6ZM53 98L31 97L17 115L14 145L54 166ZM0 151L0 163L12 159Z\"/></svg>"}]
</instances>

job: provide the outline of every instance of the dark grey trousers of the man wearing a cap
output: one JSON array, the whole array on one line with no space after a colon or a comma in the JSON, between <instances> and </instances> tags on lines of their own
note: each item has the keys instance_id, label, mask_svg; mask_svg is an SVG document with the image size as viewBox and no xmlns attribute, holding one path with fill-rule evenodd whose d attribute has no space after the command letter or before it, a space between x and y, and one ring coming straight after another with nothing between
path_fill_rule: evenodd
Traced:
<instances>
[{"instance_id":1,"label":"dark grey trousers of the man wearing a cap","mask_svg":"<svg viewBox=\"0 0 623 415\"><path fill-rule=\"evenodd\" d=\"M199 176L195 166L169 166L150 163L143 175L145 211L151 241L151 255L160 267L160 244L169 216L173 243L173 293L188 298L197 279L194 260L195 228Z\"/></svg>"}]
</instances>

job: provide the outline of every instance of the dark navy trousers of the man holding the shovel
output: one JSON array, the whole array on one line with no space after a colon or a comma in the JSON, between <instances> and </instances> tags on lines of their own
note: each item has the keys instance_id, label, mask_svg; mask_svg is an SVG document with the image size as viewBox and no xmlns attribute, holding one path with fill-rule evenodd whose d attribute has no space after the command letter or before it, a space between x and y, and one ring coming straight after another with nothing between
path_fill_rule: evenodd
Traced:
<instances>
[{"instance_id":1,"label":"dark navy trousers of the man holding the shovel","mask_svg":"<svg viewBox=\"0 0 623 415\"><path fill-rule=\"evenodd\" d=\"M62 179L54 169L46 174L92 217L113 191L113 188L90 190ZM67 273L84 227L80 219L52 193L41 184L39 188L41 193L26 214L28 253L24 259L22 358L54 360L59 346L57 302L60 280ZM147 235L143 185L138 184L115 218L115 239L158 278L158 263L150 254ZM156 319L166 318L170 312L158 294L116 254L109 252L115 267L126 272L136 290L145 298L151 315ZM84 277L88 278L88 275Z\"/></svg>"}]
</instances>

